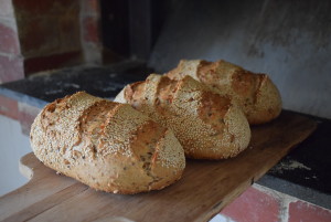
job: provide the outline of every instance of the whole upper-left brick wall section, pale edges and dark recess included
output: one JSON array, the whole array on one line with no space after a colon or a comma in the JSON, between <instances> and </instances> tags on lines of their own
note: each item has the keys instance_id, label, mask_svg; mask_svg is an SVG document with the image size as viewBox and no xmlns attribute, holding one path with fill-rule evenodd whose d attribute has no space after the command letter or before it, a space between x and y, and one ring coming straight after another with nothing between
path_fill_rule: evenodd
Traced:
<instances>
[{"instance_id":1,"label":"whole upper-left brick wall section, pale edges and dark recess included","mask_svg":"<svg viewBox=\"0 0 331 222\"><path fill-rule=\"evenodd\" d=\"M99 64L98 0L0 0L0 83Z\"/></svg>"}]
</instances>

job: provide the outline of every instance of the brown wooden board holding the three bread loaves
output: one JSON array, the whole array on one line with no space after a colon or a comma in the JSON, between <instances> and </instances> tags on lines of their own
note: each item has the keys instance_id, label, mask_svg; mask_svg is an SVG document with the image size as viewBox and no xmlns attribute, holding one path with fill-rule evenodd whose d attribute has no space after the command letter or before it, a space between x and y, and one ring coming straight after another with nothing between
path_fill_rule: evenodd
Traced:
<instances>
[{"instance_id":1,"label":"brown wooden board holding the three bread loaves","mask_svg":"<svg viewBox=\"0 0 331 222\"><path fill-rule=\"evenodd\" d=\"M33 154L21 159L31 180L0 198L0 221L207 221L305 140L317 124L282 112L253 127L249 148L222 161L188 160L182 179L135 195L95 191L44 167Z\"/></svg>"}]
</instances>

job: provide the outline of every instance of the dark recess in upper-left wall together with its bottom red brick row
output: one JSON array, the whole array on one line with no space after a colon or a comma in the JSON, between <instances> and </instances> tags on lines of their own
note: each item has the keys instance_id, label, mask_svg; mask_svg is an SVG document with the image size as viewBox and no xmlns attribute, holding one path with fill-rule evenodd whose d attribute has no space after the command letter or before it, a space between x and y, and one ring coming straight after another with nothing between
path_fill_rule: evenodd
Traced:
<instances>
[{"instance_id":1,"label":"dark recess in upper-left wall together with its bottom red brick row","mask_svg":"<svg viewBox=\"0 0 331 222\"><path fill-rule=\"evenodd\" d=\"M25 74L83 63L79 2L12 0Z\"/></svg>"}]
</instances>

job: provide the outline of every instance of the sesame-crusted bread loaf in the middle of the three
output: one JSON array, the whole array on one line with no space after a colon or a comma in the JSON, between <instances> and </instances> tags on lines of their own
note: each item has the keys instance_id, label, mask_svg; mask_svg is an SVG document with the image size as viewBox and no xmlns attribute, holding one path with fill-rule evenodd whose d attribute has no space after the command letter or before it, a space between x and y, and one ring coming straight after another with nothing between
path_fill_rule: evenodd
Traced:
<instances>
[{"instance_id":1,"label":"sesame-crusted bread loaf in the middle of the three","mask_svg":"<svg viewBox=\"0 0 331 222\"><path fill-rule=\"evenodd\" d=\"M249 144L250 129L242 110L228 96L190 76L174 81L152 74L126 86L115 101L129 103L171 128L190 158L225 159Z\"/></svg>"}]
</instances>

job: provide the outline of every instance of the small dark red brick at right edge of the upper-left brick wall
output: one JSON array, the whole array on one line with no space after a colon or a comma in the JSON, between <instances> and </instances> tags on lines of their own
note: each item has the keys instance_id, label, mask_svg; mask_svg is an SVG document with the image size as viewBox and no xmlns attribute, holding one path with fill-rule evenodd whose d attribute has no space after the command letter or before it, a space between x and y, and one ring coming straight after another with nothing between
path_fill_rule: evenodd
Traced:
<instances>
[{"instance_id":1,"label":"small dark red brick at right edge of the upper-left brick wall","mask_svg":"<svg viewBox=\"0 0 331 222\"><path fill-rule=\"evenodd\" d=\"M94 17L86 17L83 20L83 33L86 42L99 42L98 21Z\"/></svg>"}]
</instances>

